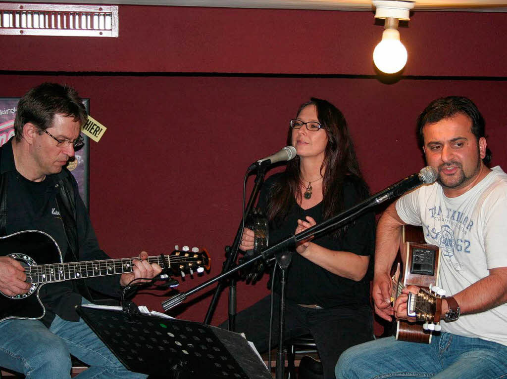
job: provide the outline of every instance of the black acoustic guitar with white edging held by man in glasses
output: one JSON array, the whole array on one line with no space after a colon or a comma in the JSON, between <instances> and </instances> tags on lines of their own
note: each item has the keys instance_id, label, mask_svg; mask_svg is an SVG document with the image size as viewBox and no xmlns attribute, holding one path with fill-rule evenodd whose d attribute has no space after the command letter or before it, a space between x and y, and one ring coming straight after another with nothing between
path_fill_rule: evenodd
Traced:
<instances>
[{"instance_id":1,"label":"black acoustic guitar with white edging held by man in glasses","mask_svg":"<svg viewBox=\"0 0 507 379\"><path fill-rule=\"evenodd\" d=\"M193 250L195 250L194 248ZM44 284L95 276L123 274L133 271L138 258L107 259L63 263L60 248L48 234L25 230L0 237L0 256L15 259L25 268L26 282L31 283L27 293L7 296L0 292L0 322L21 318L38 320L46 310L39 299ZM174 250L169 256L148 257L149 263L158 263L175 274L195 270L209 270L210 259L206 250ZM192 272L192 271L191 271Z\"/></svg>"}]
</instances>

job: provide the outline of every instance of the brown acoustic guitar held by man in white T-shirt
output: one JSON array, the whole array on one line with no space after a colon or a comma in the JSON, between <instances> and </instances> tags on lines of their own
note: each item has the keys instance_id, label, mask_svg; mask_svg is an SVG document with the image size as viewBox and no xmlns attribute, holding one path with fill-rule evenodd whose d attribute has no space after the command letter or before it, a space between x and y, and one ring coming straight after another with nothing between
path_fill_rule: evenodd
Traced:
<instances>
[{"instance_id":1,"label":"brown acoustic guitar held by man in white T-shirt","mask_svg":"<svg viewBox=\"0 0 507 379\"><path fill-rule=\"evenodd\" d=\"M440 251L436 245L424 243L421 227L403 227L400 253L405 270L400 273L400 264L392 277L391 300L401 294L408 285L421 288L419 293L410 294L408 314L416 322L397 320L396 340L429 344L433 331L440 331L440 312L445 291L436 286L439 277Z\"/></svg>"}]
</instances>

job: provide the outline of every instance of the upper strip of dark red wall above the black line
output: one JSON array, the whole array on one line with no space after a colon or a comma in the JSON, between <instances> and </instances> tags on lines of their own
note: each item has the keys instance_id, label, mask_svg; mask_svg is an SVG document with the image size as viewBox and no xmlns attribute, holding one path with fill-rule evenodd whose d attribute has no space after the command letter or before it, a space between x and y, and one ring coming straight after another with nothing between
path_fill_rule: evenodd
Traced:
<instances>
[{"instance_id":1,"label":"upper strip of dark red wall above the black line","mask_svg":"<svg viewBox=\"0 0 507 379\"><path fill-rule=\"evenodd\" d=\"M418 12L407 75L505 76L505 13ZM372 12L121 6L119 38L0 36L2 69L373 74Z\"/></svg>"}]
</instances>

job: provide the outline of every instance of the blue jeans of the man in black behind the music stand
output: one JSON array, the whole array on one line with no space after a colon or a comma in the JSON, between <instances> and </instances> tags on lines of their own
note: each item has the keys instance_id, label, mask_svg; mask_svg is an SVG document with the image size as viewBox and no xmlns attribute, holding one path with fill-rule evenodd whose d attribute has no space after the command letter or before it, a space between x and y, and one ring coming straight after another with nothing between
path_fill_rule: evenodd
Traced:
<instances>
[{"instance_id":1,"label":"blue jeans of the man in black behind the music stand","mask_svg":"<svg viewBox=\"0 0 507 379\"><path fill-rule=\"evenodd\" d=\"M97 335L80 319L56 316L48 329L38 320L6 320L0 323L0 366L21 372L27 379L70 378L70 354L90 368L77 377L137 379Z\"/></svg>"}]
</instances>

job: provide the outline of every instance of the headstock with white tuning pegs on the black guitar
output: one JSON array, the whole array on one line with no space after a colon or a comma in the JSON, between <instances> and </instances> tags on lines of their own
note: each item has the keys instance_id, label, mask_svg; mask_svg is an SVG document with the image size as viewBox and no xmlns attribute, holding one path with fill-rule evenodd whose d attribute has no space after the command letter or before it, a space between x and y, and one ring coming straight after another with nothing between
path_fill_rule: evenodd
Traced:
<instances>
[{"instance_id":1,"label":"headstock with white tuning pegs on the black guitar","mask_svg":"<svg viewBox=\"0 0 507 379\"><path fill-rule=\"evenodd\" d=\"M183 246L180 250L176 245L174 251L169 255L171 271L174 274L185 277L185 273L194 274L208 271L211 259L206 249L199 250L198 247Z\"/></svg>"}]
</instances>

